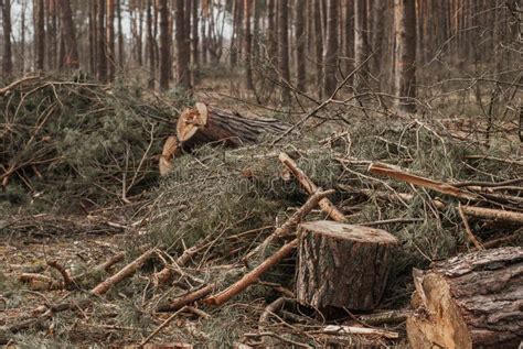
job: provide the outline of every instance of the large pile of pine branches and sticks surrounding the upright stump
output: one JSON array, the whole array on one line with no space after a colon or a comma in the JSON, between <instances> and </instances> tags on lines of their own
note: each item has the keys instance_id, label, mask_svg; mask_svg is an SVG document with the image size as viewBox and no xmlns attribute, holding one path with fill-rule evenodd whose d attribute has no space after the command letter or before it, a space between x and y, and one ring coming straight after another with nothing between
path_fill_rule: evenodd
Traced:
<instances>
[{"instance_id":1,"label":"large pile of pine branches and sticks surrounding the upright stump","mask_svg":"<svg viewBox=\"0 0 523 349\"><path fill-rule=\"evenodd\" d=\"M88 297L70 293L8 329L20 332L60 318L66 332L73 320L67 310L103 323L99 307L111 307L111 326L128 328L130 298L140 316L119 342L401 343L404 327L397 325L408 313L413 268L521 243L522 157L510 142L492 144L452 139L436 124L413 120L394 129L355 123L281 146L200 148L177 159L127 222L140 227L141 239L134 239L126 258L117 254L115 263L126 259L126 265L102 281L51 266L65 272L54 273L50 285L88 291ZM319 203L327 196L325 209ZM380 227L399 240L381 305L387 312L346 313L329 323L293 301L295 228L328 217ZM280 240L278 249L273 242ZM167 331L173 320L174 335Z\"/></svg>"}]
</instances>

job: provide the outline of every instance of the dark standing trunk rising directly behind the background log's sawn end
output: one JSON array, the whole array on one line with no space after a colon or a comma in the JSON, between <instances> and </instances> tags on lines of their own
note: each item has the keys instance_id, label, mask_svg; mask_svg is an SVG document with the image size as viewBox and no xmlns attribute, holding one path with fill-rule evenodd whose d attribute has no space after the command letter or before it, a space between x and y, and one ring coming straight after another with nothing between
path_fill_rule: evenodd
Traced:
<instances>
[{"instance_id":1,"label":"dark standing trunk rising directly behind the background log's sawn end","mask_svg":"<svg viewBox=\"0 0 523 349\"><path fill-rule=\"evenodd\" d=\"M182 88L191 88L191 75L189 70L189 59L190 59L190 47L189 47L189 33L185 33L185 12L184 12L184 1L177 1L177 67L178 67L178 85Z\"/></svg>"}]
</instances>

